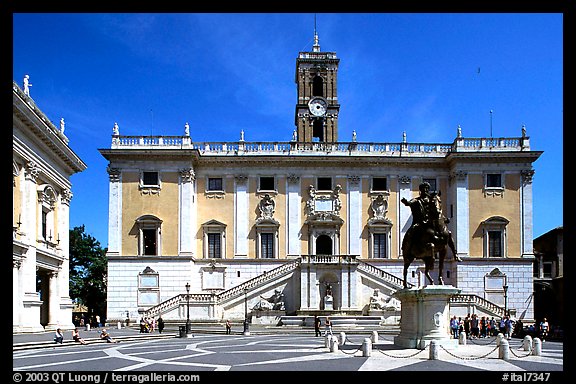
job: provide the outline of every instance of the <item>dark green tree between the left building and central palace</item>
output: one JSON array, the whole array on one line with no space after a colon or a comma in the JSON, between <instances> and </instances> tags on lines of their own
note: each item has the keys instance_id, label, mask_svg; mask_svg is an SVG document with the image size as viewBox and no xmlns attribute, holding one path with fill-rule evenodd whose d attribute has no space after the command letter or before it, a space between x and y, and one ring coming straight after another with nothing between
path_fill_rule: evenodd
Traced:
<instances>
[{"instance_id":1,"label":"dark green tree between the left building and central palace","mask_svg":"<svg viewBox=\"0 0 576 384\"><path fill-rule=\"evenodd\" d=\"M106 318L106 249L86 234L84 225L70 230L70 298L88 308L90 316Z\"/></svg>"}]
</instances>

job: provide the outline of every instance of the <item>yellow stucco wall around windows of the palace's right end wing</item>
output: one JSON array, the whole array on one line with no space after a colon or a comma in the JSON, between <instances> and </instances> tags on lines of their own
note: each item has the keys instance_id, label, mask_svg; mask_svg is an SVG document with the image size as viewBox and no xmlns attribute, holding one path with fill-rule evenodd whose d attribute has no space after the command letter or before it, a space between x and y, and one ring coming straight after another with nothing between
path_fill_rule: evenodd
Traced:
<instances>
[{"instance_id":1,"label":"yellow stucco wall around windows of the palace's right end wing","mask_svg":"<svg viewBox=\"0 0 576 384\"><path fill-rule=\"evenodd\" d=\"M484 176L468 175L470 256L483 256L482 221L492 216L502 216L510 221L506 227L507 257L520 257L520 175L504 176L504 193L501 196L485 196Z\"/></svg>"}]
</instances>

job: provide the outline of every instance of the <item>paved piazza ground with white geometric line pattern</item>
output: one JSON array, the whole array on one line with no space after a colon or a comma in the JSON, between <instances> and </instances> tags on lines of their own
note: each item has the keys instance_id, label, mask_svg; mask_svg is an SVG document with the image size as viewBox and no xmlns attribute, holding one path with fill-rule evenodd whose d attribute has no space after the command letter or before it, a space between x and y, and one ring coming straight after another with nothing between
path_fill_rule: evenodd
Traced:
<instances>
[{"instance_id":1,"label":"paved piazza ground with white geometric line pattern","mask_svg":"<svg viewBox=\"0 0 576 384\"><path fill-rule=\"evenodd\" d=\"M337 351L324 337L312 335L214 335L192 338L150 338L118 344L63 345L14 351L13 370L107 372L215 371L498 371L551 372L561 375L563 344L543 343L542 356L529 356L520 339L510 341L510 359L498 358L494 338L469 340L467 345L440 348L438 360L429 348L400 349L393 336L379 336L370 357L362 356L369 334L346 336ZM556 371L556 373L554 372ZM527 381L527 380L524 380ZM548 380L553 382L553 380Z\"/></svg>"}]
</instances>

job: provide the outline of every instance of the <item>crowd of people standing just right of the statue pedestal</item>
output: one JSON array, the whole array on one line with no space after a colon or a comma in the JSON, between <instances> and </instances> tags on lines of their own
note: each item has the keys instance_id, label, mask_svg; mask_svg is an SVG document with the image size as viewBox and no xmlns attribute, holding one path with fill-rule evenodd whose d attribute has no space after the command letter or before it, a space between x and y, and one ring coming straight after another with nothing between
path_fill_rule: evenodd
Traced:
<instances>
[{"instance_id":1,"label":"crowd of people standing just right of the statue pedestal","mask_svg":"<svg viewBox=\"0 0 576 384\"><path fill-rule=\"evenodd\" d=\"M468 314L464 319L453 316L450 319L450 331L455 339L460 337L462 332L470 339L480 339L484 337L496 336L502 333L504 337L510 339L514 329L514 321L510 316L504 316L499 321L494 317L478 317L477 314Z\"/></svg>"}]
</instances>

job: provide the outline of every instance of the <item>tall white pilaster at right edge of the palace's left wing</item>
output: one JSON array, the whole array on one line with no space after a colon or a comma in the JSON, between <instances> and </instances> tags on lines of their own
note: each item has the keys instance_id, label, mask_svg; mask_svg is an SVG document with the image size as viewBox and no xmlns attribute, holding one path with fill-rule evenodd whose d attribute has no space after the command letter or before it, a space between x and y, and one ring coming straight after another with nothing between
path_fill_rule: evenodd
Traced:
<instances>
[{"instance_id":1,"label":"tall white pilaster at right edge of the palace's left wing","mask_svg":"<svg viewBox=\"0 0 576 384\"><path fill-rule=\"evenodd\" d=\"M194 205L194 181L196 180L194 175L194 170L192 168L180 170L180 184L179 184L179 250L180 255L194 254L194 232L193 223L195 219L193 217L193 205Z\"/></svg>"}]
</instances>

